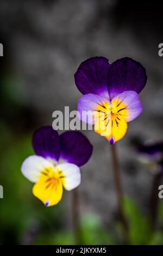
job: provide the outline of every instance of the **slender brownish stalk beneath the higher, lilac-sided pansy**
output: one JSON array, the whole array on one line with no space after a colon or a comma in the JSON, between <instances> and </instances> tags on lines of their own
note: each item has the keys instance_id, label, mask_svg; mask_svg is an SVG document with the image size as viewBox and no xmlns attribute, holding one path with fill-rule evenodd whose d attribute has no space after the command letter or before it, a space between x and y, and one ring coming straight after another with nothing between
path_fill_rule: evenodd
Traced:
<instances>
[{"instance_id":1,"label":"slender brownish stalk beneath the higher, lilac-sided pansy","mask_svg":"<svg viewBox=\"0 0 163 256\"><path fill-rule=\"evenodd\" d=\"M111 156L112 156L112 168L114 172L114 180L115 180L115 187L116 187L117 200L118 200L118 213L119 213L119 217L122 222L123 228L124 230L127 231L128 229L127 221L124 216L124 210L123 210L123 190L122 190L121 177L120 177L120 168L118 165L118 158L117 158L115 144L111 145Z\"/></svg>"}]
</instances>

